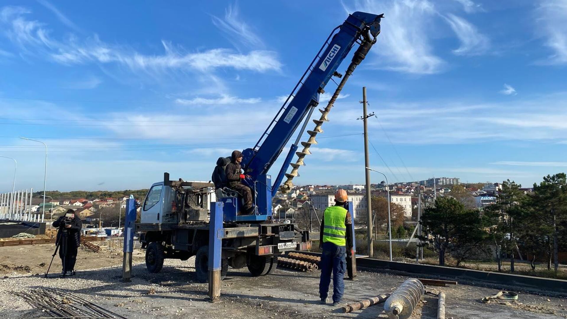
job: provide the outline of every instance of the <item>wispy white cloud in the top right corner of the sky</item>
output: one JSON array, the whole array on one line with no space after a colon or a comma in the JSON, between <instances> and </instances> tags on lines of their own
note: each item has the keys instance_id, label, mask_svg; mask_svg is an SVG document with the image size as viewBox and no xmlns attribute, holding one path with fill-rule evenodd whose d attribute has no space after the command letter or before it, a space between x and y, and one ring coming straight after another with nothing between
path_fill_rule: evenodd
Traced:
<instances>
[{"instance_id":1,"label":"wispy white cloud in the top right corner of the sky","mask_svg":"<svg viewBox=\"0 0 567 319\"><path fill-rule=\"evenodd\" d=\"M567 1L565 0L540 0L539 7L535 11L536 22L539 28L536 30L544 34L545 46L553 51L553 54L545 60L538 61L539 64L565 65L567 64Z\"/></svg>"}]
</instances>

